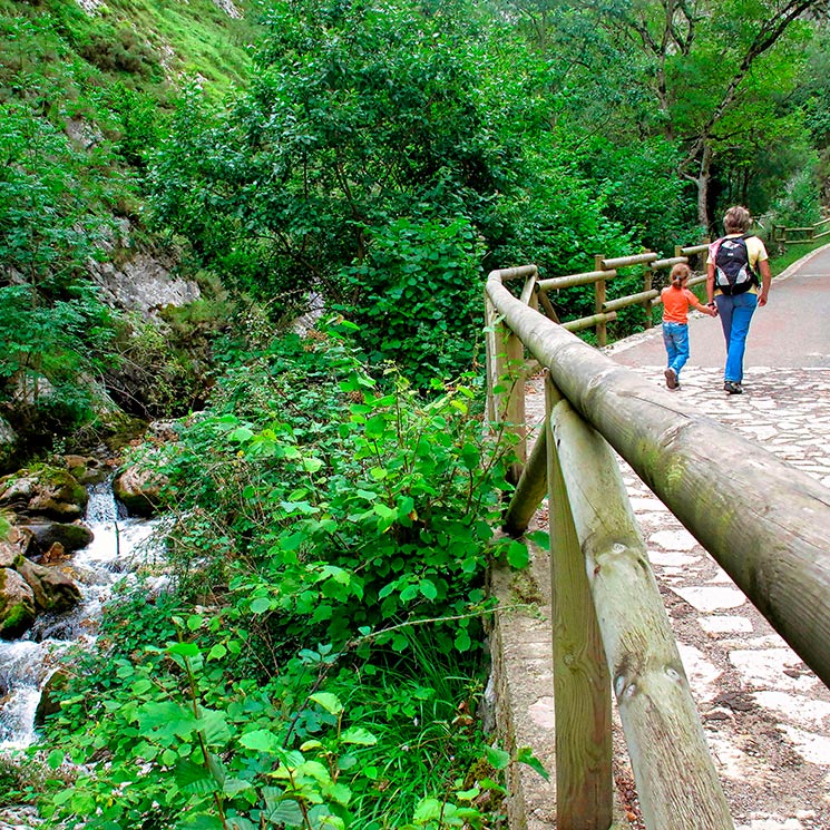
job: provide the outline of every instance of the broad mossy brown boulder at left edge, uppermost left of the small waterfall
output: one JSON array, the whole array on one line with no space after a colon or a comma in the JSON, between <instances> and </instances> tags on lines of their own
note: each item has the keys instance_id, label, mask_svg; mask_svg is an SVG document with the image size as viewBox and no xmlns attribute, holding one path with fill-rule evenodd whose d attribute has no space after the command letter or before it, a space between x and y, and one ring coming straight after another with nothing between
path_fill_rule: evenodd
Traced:
<instances>
[{"instance_id":1,"label":"broad mossy brown boulder at left edge, uppermost left of the small waterfall","mask_svg":"<svg viewBox=\"0 0 830 830\"><path fill-rule=\"evenodd\" d=\"M0 479L0 507L27 516L74 521L84 516L86 489L66 470L46 465Z\"/></svg>"}]
</instances>

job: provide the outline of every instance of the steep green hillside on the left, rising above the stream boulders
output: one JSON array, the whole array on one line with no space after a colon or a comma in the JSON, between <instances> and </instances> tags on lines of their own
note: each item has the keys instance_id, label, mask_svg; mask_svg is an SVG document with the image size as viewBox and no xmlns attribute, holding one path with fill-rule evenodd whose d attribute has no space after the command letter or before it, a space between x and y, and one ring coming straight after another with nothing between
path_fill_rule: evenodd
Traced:
<instances>
[{"instance_id":1,"label":"steep green hillside on the left, rising above the stream boulders","mask_svg":"<svg viewBox=\"0 0 830 830\"><path fill-rule=\"evenodd\" d=\"M80 378L143 417L187 407L203 384L172 333L100 302L87 263L165 254L146 221L149 160L183 88L216 104L244 88L256 26L248 4L230 14L212 0L85 7L0 0L0 417L19 439L0 448L6 469L53 436L119 428ZM137 399L141 387L156 390Z\"/></svg>"}]
</instances>

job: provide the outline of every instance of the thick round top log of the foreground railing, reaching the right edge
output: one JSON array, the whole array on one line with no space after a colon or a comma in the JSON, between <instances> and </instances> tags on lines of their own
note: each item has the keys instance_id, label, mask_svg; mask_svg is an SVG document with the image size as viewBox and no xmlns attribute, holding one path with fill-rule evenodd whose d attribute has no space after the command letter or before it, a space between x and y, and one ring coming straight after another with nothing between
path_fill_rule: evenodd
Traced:
<instances>
[{"instance_id":1,"label":"thick round top log of the foreground railing, reaching the right edge","mask_svg":"<svg viewBox=\"0 0 830 830\"><path fill-rule=\"evenodd\" d=\"M505 289L487 295L570 404L830 686L830 490L584 343Z\"/></svg>"}]
</instances>

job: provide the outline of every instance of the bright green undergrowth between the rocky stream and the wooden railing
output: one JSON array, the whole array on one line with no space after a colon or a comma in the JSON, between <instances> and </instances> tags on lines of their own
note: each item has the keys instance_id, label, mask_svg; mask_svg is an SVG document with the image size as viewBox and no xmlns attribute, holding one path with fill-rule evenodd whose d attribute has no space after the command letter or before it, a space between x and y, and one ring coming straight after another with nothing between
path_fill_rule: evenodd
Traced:
<instances>
[{"instance_id":1,"label":"bright green undergrowth between the rocky stream and the wooden railing","mask_svg":"<svg viewBox=\"0 0 830 830\"><path fill-rule=\"evenodd\" d=\"M176 592L128 592L66 681L50 759L86 772L43 811L107 830L481 827L471 802L505 761L475 720L485 568L527 555L494 540L509 447L472 398L379 394L334 335L230 369L209 413L145 451L177 517Z\"/></svg>"}]
</instances>

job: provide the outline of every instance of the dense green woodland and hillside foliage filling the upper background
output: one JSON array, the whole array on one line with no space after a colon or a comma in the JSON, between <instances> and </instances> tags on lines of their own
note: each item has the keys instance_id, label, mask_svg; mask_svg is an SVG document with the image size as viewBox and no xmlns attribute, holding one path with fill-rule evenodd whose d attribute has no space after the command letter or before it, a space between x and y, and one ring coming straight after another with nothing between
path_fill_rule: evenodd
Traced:
<instances>
[{"instance_id":1,"label":"dense green woodland and hillside foliage filling the upper background","mask_svg":"<svg viewBox=\"0 0 830 830\"><path fill-rule=\"evenodd\" d=\"M150 364L136 360L158 354L133 341L152 336L97 311L84 284L90 257L129 258L150 235L277 326L310 303L340 310L372 362L429 388L476 365L491 267L671 254L732 202L818 217L818 0L238 8L0 2L0 287L31 287L28 305L3 300L14 426L37 414L25 372L53 388L68 428L91 417L95 391L69 396L32 351L43 321L64 328L65 303L86 321L53 344L68 374L135 414L201 404L204 344L195 358L177 344L163 394L137 393ZM585 292L558 302L590 310ZM622 315L618 333L632 324ZM35 431L50 440L46 422Z\"/></svg>"}]
</instances>

